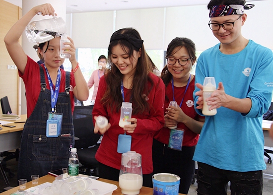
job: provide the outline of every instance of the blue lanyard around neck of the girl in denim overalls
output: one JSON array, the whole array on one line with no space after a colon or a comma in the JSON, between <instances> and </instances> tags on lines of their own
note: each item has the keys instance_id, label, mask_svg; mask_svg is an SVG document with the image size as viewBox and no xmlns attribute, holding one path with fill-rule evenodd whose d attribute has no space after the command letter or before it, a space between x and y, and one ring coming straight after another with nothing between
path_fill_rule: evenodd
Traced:
<instances>
[{"instance_id":1,"label":"blue lanyard around neck of the girl in denim overalls","mask_svg":"<svg viewBox=\"0 0 273 195\"><path fill-rule=\"evenodd\" d=\"M46 73L47 73L47 78L50 86L50 91L51 91L51 113L55 113L54 108L57 104L58 96L59 96L59 90L60 90L60 82L61 82L61 70L59 68L58 74L57 74L57 80L56 80L56 85L55 85L55 90L53 89L53 83L50 78L49 72L47 70L46 65L44 64Z\"/></svg>"}]
</instances>

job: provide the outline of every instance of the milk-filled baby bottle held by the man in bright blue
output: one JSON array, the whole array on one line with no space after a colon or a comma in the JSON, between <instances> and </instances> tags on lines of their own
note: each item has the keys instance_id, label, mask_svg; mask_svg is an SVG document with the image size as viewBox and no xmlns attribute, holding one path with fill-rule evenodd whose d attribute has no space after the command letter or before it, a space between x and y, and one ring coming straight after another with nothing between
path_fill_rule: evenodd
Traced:
<instances>
[{"instance_id":1,"label":"milk-filled baby bottle held by the man in bright blue","mask_svg":"<svg viewBox=\"0 0 273 195\"><path fill-rule=\"evenodd\" d=\"M205 101L207 98L209 98L213 91L216 90L216 83L214 77L205 77L204 84L203 84L203 115L206 116L213 116L216 115L217 110L214 108L212 110L208 110L210 106L207 105L207 102Z\"/></svg>"}]
</instances>

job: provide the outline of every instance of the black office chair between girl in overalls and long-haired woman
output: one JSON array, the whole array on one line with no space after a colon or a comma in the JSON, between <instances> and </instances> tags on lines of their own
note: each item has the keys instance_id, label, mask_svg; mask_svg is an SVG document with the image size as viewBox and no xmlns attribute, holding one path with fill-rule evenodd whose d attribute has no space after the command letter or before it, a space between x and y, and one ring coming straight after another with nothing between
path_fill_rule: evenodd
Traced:
<instances>
[{"instance_id":1,"label":"black office chair between girl in overalls and long-haired woman","mask_svg":"<svg viewBox=\"0 0 273 195\"><path fill-rule=\"evenodd\" d=\"M79 168L79 172L98 176L98 161L95 159L95 154L101 135L94 133L92 110L93 105L75 106L73 113L75 148L77 148L79 162L83 165Z\"/></svg>"}]
</instances>

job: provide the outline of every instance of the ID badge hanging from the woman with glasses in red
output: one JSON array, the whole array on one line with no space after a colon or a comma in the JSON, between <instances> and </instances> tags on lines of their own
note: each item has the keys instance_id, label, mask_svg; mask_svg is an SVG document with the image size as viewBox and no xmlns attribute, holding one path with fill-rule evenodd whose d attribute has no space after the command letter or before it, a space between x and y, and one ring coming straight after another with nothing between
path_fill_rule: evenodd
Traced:
<instances>
[{"instance_id":1,"label":"ID badge hanging from the woman with glasses in red","mask_svg":"<svg viewBox=\"0 0 273 195\"><path fill-rule=\"evenodd\" d=\"M171 130L168 148L182 150L184 130Z\"/></svg>"}]
</instances>

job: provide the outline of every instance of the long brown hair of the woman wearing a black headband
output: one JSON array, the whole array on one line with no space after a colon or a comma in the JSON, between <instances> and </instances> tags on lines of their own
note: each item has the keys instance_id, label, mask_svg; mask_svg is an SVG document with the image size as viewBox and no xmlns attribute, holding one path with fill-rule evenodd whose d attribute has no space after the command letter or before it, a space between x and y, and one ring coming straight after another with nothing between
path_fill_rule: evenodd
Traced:
<instances>
[{"instance_id":1,"label":"long brown hair of the woman wearing a black headband","mask_svg":"<svg viewBox=\"0 0 273 195\"><path fill-rule=\"evenodd\" d=\"M141 37L136 29L134 28L123 28L113 33L123 34L127 37L136 38L141 40ZM112 37L113 37L112 35ZM136 65L136 72L133 75L133 86L131 89L131 93L127 94L132 99L133 103L133 114L143 113L144 111L149 110L149 104L146 101L146 97L142 94L146 94L148 96L151 88L153 87L153 81L148 76L149 68L151 67L151 62L148 60L146 56L146 52L143 44L141 44L140 48L137 48L132 43L130 43L126 39L117 39L110 41L108 47L108 63L109 68L106 69L105 72L105 80L107 83L107 89L105 94L103 95L101 102L105 106L109 106L111 111L119 112L119 109L122 105L123 99L121 94L121 81L123 79L123 74L120 72L119 68L112 63L112 50L115 46L120 45L125 53L129 55L131 61L133 61L133 53L135 51L140 51L141 56L138 58ZM148 82L151 83L150 88L148 88Z\"/></svg>"}]
</instances>

